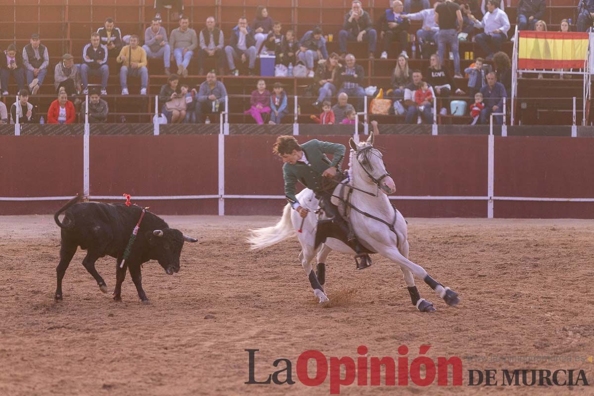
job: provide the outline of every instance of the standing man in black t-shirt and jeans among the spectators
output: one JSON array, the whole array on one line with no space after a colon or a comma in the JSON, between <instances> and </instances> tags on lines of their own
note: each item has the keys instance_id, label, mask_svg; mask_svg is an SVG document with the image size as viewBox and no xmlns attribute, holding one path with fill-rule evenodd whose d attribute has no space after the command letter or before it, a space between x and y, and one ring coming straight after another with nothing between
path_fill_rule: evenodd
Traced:
<instances>
[{"instance_id":1,"label":"standing man in black t-shirt and jeans among the spectators","mask_svg":"<svg viewBox=\"0 0 594 396\"><path fill-rule=\"evenodd\" d=\"M452 0L445 0L435 8L435 22L440 31L437 34L437 53L441 63L445 62L445 47L450 46L454 55L454 77L462 78L460 73L460 52L458 50L458 33L462 30L462 11Z\"/></svg>"}]
</instances>

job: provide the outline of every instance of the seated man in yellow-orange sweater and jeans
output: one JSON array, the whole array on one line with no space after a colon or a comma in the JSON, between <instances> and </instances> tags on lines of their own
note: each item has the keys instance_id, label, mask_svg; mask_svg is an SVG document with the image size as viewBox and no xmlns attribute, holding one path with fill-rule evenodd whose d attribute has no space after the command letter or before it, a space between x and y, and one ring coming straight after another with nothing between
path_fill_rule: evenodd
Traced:
<instances>
[{"instance_id":1,"label":"seated man in yellow-orange sweater and jeans","mask_svg":"<svg viewBox=\"0 0 594 396\"><path fill-rule=\"evenodd\" d=\"M147 53L144 48L138 45L138 36L130 36L130 44L124 46L116 59L122 64L119 69L119 84L122 86L122 95L128 92L128 75L140 77L140 94L147 94L149 85L149 69L147 69Z\"/></svg>"}]
</instances>

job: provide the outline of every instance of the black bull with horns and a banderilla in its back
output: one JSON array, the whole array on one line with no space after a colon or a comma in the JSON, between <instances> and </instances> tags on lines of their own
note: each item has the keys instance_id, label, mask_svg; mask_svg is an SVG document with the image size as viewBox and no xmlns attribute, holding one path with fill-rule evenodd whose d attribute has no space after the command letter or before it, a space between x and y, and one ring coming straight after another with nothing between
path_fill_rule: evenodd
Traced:
<instances>
[{"instance_id":1,"label":"black bull with horns and a banderilla in its back","mask_svg":"<svg viewBox=\"0 0 594 396\"><path fill-rule=\"evenodd\" d=\"M95 262L100 257L112 256L116 258L116 286L113 299L122 299L122 282L128 267L138 297L147 302L149 299L141 283L141 264L157 260L166 273L171 275L179 271L179 256L184 240L197 242L197 239L183 235L179 230L170 229L162 218L146 211L124 267L120 268L128 240L143 208L136 205L128 207L125 204L78 201L80 197L72 198L53 216L61 228L62 237L60 262L56 267L56 300L62 299L62 278L78 246L87 251L83 259L84 268L93 275L103 293L107 293L108 288L101 275L97 273ZM65 212L64 220L60 221L58 216L62 212Z\"/></svg>"}]
</instances>

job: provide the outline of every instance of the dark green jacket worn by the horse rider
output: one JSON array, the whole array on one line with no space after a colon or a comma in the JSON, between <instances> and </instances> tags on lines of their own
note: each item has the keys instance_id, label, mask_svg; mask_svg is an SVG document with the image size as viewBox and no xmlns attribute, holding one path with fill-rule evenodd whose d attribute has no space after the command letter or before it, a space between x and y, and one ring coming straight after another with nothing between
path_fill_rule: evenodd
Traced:
<instances>
[{"instance_id":1,"label":"dark green jacket worn by the horse rider","mask_svg":"<svg viewBox=\"0 0 594 396\"><path fill-rule=\"evenodd\" d=\"M324 170L336 166L340 170L340 163L345 158L346 147L339 143L323 142L317 139L310 140L301 145L305 158L309 164L299 163L283 165L283 178L285 179L285 196L289 203L299 202L295 197L295 183L301 182L305 187L314 191L322 187ZM332 154L330 161L326 154Z\"/></svg>"}]
</instances>

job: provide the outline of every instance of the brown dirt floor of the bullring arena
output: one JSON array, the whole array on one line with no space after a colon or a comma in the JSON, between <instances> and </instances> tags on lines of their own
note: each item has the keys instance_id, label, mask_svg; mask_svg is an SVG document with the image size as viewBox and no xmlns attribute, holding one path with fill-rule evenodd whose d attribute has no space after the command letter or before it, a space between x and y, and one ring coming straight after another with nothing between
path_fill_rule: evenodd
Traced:
<instances>
[{"instance_id":1,"label":"brown dirt floor of the bullring arena","mask_svg":"<svg viewBox=\"0 0 594 396\"><path fill-rule=\"evenodd\" d=\"M422 344L434 361L462 359L462 387L435 379L430 388L353 384L340 394L594 394L594 385L467 386L470 369L583 369L594 383L593 221L409 219L410 259L462 298L450 308L417 281L437 308L428 314L410 305L399 268L377 255L359 272L352 258L331 254L331 302L318 305L295 238L263 251L244 242L247 229L277 217L165 219L200 243L184 246L178 274L144 265L151 304L142 305L129 275L124 302L101 293L80 251L64 300L54 302L53 219L0 217L0 395L328 395L329 375L314 388L298 381L302 352L356 359L365 345L370 357L396 358L406 345L410 364ZM113 290L115 260L100 259L97 270ZM260 350L255 379L287 358L296 384L245 385L245 349Z\"/></svg>"}]
</instances>

